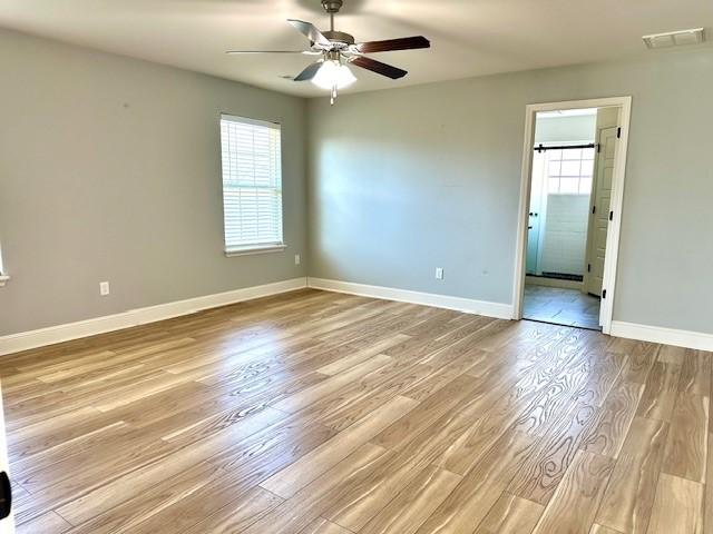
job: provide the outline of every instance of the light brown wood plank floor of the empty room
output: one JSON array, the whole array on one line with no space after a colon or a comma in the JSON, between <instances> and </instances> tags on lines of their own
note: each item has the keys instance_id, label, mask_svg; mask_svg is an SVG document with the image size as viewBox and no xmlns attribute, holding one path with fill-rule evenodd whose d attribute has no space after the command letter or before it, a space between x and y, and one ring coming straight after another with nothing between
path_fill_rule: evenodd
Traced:
<instances>
[{"instance_id":1,"label":"light brown wood plank floor of the empty room","mask_svg":"<svg viewBox=\"0 0 713 534\"><path fill-rule=\"evenodd\" d=\"M710 533L711 363L315 290L17 354L18 532Z\"/></svg>"}]
</instances>

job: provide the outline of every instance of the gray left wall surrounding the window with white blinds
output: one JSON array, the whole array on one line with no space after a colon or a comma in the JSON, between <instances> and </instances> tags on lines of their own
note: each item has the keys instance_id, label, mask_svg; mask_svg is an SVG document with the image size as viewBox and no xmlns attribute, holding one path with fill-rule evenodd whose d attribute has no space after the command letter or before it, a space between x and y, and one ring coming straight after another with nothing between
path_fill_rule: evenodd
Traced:
<instances>
[{"instance_id":1,"label":"gray left wall surrounding the window with white blinds","mask_svg":"<svg viewBox=\"0 0 713 534\"><path fill-rule=\"evenodd\" d=\"M306 275L304 100L3 30L0 72L0 335ZM284 254L223 254L221 111L283 123Z\"/></svg>"}]
</instances>

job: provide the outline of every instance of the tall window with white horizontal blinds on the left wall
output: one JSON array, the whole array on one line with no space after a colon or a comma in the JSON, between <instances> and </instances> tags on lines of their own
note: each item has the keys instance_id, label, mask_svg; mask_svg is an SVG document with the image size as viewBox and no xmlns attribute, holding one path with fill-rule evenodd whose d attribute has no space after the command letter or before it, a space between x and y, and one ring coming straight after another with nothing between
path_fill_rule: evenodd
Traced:
<instances>
[{"instance_id":1,"label":"tall window with white horizontal blinds on the left wall","mask_svg":"<svg viewBox=\"0 0 713 534\"><path fill-rule=\"evenodd\" d=\"M280 250L282 152L280 125L221 116L225 253Z\"/></svg>"}]
</instances>

